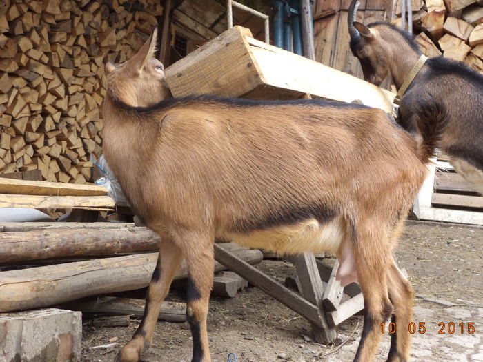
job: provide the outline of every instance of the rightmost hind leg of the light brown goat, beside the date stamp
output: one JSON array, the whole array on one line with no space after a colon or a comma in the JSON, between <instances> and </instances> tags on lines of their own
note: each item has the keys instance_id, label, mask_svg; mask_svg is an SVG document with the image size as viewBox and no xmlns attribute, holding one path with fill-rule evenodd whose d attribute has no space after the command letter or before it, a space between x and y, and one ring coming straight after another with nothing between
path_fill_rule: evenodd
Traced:
<instances>
[{"instance_id":1,"label":"rightmost hind leg of the light brown goat, beside the date stamp","mask_svg":"<svg viewBox=\"0 0 483 362\"><path fill-rule=\"evenodd\" d=\"M413 287L397 268L394 259L388 268L388 290L394 306L392 321L396 325L396 332L391 334L387 362L407 362L411 349L411 333L408 327L413 318Z\"/></svg>"}]
</instances>

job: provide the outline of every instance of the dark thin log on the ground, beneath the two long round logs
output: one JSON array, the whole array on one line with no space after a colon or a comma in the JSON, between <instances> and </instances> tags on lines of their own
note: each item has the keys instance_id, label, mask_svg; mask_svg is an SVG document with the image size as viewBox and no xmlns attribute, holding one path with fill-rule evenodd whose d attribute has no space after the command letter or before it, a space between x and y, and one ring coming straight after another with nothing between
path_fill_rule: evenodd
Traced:
<instances>
[{"instance_id":1,"label":"dark thin log on the ground, beneath the two long round logs","mask_svg":"<svg viewBox=\"0 0 483 362\"><path fill-rule=\"evenodd\" d=\"M144 315L144 300L102 296L95 299L81 299L60 305L68 310L79 310L83 313L128 315L141 318ZM161 304L159 321L183 323L186 321L186 303L166 302Z\"/></svg>"}]
</instances>

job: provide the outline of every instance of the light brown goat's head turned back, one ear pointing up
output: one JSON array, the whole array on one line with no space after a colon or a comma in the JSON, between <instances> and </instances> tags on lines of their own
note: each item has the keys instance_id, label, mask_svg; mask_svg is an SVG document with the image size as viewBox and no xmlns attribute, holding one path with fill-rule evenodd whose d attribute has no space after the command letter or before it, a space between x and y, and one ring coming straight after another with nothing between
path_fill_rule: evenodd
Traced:
<instances>
[{"instance_id":1,"label":"light brown goat's head turned back, one ear pointing up","mask_svg":"<svg viewBox=\"0 0 483 362\"><path fill-rule=\"evenodd\" d=\"M156 41L157 27L134 57L117 66L112 61L106 63L108 94L113 101L148 107L171 97L164 66L153 57Z\"/></svg>"}]
</instances>

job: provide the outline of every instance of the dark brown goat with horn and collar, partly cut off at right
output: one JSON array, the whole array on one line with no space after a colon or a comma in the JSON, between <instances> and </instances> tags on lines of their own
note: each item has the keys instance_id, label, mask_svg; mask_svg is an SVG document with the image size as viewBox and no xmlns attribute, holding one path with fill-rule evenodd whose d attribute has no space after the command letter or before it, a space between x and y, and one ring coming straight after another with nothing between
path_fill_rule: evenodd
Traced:
<instances>
[{"instance_id":1,"label":"dark brown goat with horn and collar, partly cut off at right","mask_svg":"<svg viewBox=\"0 0 483 362\"><path fill-rule=\"evenodd\" d=\"M364 79L379 86L391 74L399 89L422 54L417 43L391 24L357 23L357 6L353 0L348 28ZM451 156L455 170L483 194L482 74L458 61L428 59L402 95L399 113L403 128Z\"/></svg>"}]
</instances>

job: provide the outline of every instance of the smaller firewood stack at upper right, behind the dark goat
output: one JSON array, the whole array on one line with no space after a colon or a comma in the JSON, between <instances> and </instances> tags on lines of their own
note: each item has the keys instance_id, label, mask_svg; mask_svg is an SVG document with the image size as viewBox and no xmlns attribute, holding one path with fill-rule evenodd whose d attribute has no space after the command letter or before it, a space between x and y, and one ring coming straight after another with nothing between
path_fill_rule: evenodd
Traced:
<instances>
[{"instance_id":1,"label":"smaller firewood stack at upper right, behind the dark goat","mask_svg":"<svg viewBox=\"0 0 483 362\"><path fill-rule=\"evenodd\" d=\"M426 56L464 61L483 72L483 0L413 0L411 10L416 41Z\"/></svg>"}]
</instances>

